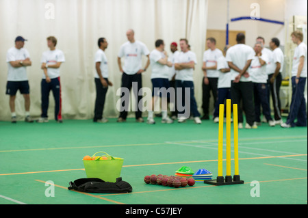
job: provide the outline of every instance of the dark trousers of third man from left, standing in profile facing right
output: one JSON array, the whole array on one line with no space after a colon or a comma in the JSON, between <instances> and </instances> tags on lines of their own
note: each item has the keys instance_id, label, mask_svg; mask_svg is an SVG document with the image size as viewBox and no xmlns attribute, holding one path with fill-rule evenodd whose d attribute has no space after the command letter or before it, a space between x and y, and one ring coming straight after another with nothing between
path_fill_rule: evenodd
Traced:
<instances>
[{"instance_id":1,"label":"dark trousers of third man from left, standing in profile facing right","mask_svg":"<svg viewBox=\"0 0 308 218\"><path fill-rule=\"evenodd\" d=\"M104 78L107 83L108 79ZM108 90L108 87L103 87L101 83L101 79L94 78L95 87L97 90L97 98L95 99L95 107L94 107L94 118L93 121L97 122L97 120L101 120L103 118L103 110L105 105L105 97Z\"/></svg>"}]
</instances>

